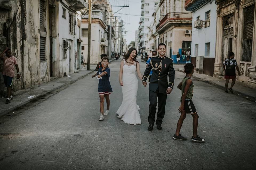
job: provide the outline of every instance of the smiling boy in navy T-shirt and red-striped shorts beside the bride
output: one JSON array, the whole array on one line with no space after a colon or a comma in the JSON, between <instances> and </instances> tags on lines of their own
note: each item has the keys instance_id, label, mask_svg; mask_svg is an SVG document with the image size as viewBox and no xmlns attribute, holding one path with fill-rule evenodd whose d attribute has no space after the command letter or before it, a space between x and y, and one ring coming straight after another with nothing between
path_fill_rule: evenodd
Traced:
<instances>
[{"instance_id":1,"label":"smiling boy in navy T-shirt and red-striped shorts beside the bride","mask_svg":"<svg viewBox=\"0 0 256 170\"><path fill-rule=\"evenodd\" d=\"M104 120L104 116L103 116L104 97L106 98L106 102L107 102L107 109L104 115L109 114L109 105L110 105L109 95L112 92L112 87L109 82L110 69L107 67L108 64L109 64L109 59L107 57L102 58L102 67L99 68L97 72L97 78L99 79L98 94L99 94L100 111L101 111L101 116L99 120Z\"/></svg>"}]
</instances>

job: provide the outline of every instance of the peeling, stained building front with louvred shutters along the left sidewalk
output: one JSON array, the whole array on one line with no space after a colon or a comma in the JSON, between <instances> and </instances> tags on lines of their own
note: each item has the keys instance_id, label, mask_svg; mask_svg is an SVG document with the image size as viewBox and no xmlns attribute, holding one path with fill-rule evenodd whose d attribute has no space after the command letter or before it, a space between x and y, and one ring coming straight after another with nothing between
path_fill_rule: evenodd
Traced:
<instances>
[{"instance_id":1,"label":"peeling, stained building front with louvred shutters along the left sidewalk","mask_svg":"<svg viewBox=\"0 0 256 170\"><path fill-rule=\"evenodd\" d=\"M75 13L85 7L85 0L0 1L0 51L6 46L11 48L21 73L21 79L14 79L14 91L40 85L50 81L50 77L62 77L65 73L76 70L74 57L71 65L67 62L68 65L64 66L67 71L63 71L62 40L73 41L71 45L68 44L71 49L73 46L69 56L75 56L75 53L78 53L74 50L78 49L75 42L79 39L75 36L78 28ZM66 9L66 22L62 21L63 8ZM71 15L73 17L70 17ZM66 29L67 32L63 32ZM73 32L69 32L70 30ZM66 34L68 37L65 37ZM70 66L71 69L66 69ZM0 68L2 69L2 61ZM0 93L4 95L1 69Z\"/></svg>"}]
</instances>

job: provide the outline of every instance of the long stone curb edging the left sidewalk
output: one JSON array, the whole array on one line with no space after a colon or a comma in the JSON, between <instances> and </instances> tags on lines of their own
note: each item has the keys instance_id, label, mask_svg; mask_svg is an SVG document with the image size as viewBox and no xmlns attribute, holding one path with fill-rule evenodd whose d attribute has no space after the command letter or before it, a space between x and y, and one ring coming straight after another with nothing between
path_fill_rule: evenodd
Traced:
<instances>
[{"instance_id":1,"label":"long stone curb edging the left sidewalk","mask_svg":"<svg viewBox=\"0 0 256 170\"><path fill-rule=\"evenodd\" d=\"M24 101L23 103L21 103L21 104L19 104L19 105L16 105L16 106L14 106L14 107L12 107L12 108L10 108L10 109L4 111L4 112L1 112L1 113L0 113L0 117L3 117L3 116L5 116L6 114L8 114L8 113L10 113L10 112L12 112L12 111L14 111L14 110L17 110L17 109L19 109L19 108L21 108L21 107L24 107L24 106L26 106L27 104L31 103L32 101L37 101L37 100L40 99L41 97L48 96L48 95L52 94L52 92L54 92L55 90L61 89L61 88L63 88L63 87L67 88L67 87L69 87L71 84L77 82L78 80L81 80L82 78L84 78L84 77L86 77L87 75L93 73L94 71L95 71L95 70L91 70L89 73L87 73L87 74L85 74L85 75L82 75L82 76L78 77L78 78L75 79L75 80L72 80L72 81L70 81L70 82L68 82L68 83L66 83L66 84L62 84L61 86L55 87L55 88L53 88L53 89L51 89L51 90L49 90L49 91L47 91L47 92L43 92L42 94L40 94L40 95L38 95L38 96L35 96L35 97L31 98L30 100ZM64 90L65 88L63 88L62 90ZM61 91L62 91L62 90L61 90Z\"/></svg>"}]
</instances>

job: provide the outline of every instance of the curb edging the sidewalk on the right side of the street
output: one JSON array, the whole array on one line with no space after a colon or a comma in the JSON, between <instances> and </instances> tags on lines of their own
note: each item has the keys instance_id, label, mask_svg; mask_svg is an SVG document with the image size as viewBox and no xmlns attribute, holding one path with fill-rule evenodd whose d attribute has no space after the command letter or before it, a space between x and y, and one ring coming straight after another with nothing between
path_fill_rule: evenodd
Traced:
<instances>
[{"instance_id":1,"label":"curb edging the sidewalk on the right side of the street","mask_svg":"<svg viewBox=\"0 0 256 170\"><path fill-rule=\"evenodd\" d=\"M181 71L181 70L179 70L179 69L178 69L178 71L183 72L183 71ZM193 75L193 77L194 77L195 79L197 79L197 80L200 80L200 81L202 81L202 82L205 82L205 83L214 85L215 87L218 87L219 89L225 91L225 87L224 87L224 86L221 86L221 85L218 84L218 83L215 83L215 82L212 82L212 81L208 81L208 80L199 78L199 77L197 77L196 75ZM224 93L224 92L223 92L223 93ZM250 96L250 95L247 95L247 94L245 94L245 93L243 93L243 92L240 92L240 91L237 91L237 90L233 90L233 94L239 95L239 96L241 96L241 97L243 97L243 98L245 98L245 99L247 99L247 100L250 100L250 101L256 101L256 97L255 97L255 96Z\"/></svg>"}]
</instances>

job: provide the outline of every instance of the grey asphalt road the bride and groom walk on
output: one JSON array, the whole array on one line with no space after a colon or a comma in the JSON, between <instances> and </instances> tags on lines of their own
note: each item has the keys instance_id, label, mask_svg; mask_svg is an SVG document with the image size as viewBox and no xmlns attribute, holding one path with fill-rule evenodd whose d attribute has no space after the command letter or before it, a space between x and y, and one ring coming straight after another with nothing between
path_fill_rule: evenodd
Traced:
<instances>
[{"instance_id":1,"label":"grey asphalt road the bride and groom walk on","mask_svg":"<svg viewBox=\"0 0 256 170\"><path fill-rule=\"evenodd\" d=\"M199 115L198 135L190 140L192 116L172 138L179 118L184 74L176 71L167 96L162 130L148 131L148 86L139 82L137 104L141 125L117 118L122 102L119 61L112 62L110 114L99 121L98 80L87 76L34 106L1 118L0 169L255 169L256 105L193 80L193 102ZM145 63L141 63L143 74ZM93 73L94 74L94 73ZM43 99L42 99L43 100ZM105 105L106 108L106 105Z\"/></svg>"}]
</instances>

